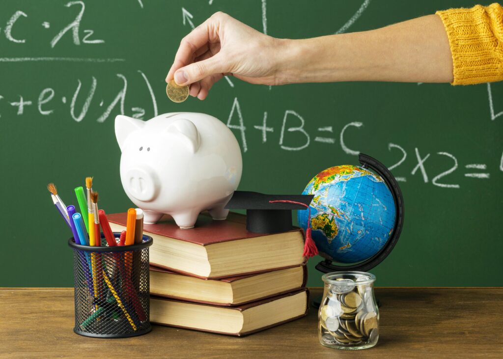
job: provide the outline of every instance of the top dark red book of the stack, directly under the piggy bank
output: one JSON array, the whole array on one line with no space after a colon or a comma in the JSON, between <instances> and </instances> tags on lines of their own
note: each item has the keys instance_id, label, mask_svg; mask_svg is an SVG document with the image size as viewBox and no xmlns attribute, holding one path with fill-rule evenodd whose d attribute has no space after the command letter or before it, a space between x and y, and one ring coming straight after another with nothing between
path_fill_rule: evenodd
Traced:
<instances>
[{"instance_id":1,"label":"top dark red book of the stack, directly under the piggy bank","mask_svg":"<svg viewBox=\"0 0 503 359\"><path fill-rule=\"evenodd\" d=\"M113 231L126 228L126 213L107 215ZM153 238L150 264L187 275L219 279L298 266L304 262L304 232L261 234L246 230L246 216L229 213L226 220L198 217L191 229L181 229L165 216L143 231Z\"/></svg>"}]
</instances>

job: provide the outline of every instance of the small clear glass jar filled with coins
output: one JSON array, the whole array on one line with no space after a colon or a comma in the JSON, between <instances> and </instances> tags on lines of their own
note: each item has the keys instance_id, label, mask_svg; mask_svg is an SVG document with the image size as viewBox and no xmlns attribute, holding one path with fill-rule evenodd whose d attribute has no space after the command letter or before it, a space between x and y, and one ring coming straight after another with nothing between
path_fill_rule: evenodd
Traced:
<instances>
[{"instance_id":1,"label":"small clear glass jar filled with coins","mask_svg":"<svg viewBox=\"0 0 503 359\"><path fill-rule=\"evenodd\" d=\"M379 339L379 311L374 298L376 277L364 272L333 272L325 283L318 311L321 345L336 349L365 349Z\"/></svg>"}]
</instances>

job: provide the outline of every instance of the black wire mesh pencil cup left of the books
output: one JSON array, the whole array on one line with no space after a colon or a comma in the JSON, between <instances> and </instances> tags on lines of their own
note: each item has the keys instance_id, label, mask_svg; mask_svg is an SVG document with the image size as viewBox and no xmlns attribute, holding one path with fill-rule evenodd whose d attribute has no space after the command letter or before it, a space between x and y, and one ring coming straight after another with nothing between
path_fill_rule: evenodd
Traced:
<instances>
[{"instance_id":1,"label":"black wire mesh pencil cup left of the books","mask_svg":"<svg viewBox=\"0 0 503 359\"><path fill-rule=\"evenodd\" d=\"M114 233L119 240L120 233ZM75 327L80 335L125 338L151 330L149 320L148 247L152 237L140 244L102 247L75 244L73 275Z\"/></svg>"}]
</instances>

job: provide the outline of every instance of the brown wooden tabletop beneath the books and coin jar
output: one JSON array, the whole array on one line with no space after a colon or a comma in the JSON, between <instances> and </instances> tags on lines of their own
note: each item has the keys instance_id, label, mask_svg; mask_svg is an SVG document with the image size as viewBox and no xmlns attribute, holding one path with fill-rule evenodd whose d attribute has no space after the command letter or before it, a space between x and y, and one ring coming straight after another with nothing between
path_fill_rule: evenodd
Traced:
<instances>
[{"instance_id":1,"label":"brown wooden tabletop beneath the books and coin jar","mask_svg":"<svg viewBox=\"0 0 503 359\"><path fill-rule=\"evenodd\" d=\"M320 289L311 289L311 298ZM316 310L245 337L153 326L94 339L73 333L72 289L0 289L0 357L503 357L503 288L377 288L380 337L370 349L321 346Z\"/></svg>"}]
</instances>

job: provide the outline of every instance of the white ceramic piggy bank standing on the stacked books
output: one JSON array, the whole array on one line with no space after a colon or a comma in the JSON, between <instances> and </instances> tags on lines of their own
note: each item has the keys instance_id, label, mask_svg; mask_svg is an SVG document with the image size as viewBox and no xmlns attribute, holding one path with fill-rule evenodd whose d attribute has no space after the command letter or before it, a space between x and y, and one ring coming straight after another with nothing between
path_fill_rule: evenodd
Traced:
<instances>
[{"instance_id":1,"label":"white ceramic piggy bank standing on the stacked books","mask_svg":"<svg viewBox=\"0 0 503 359\"><path fill-rule=\"evenodd\" d=\"M121 182L144 211L144 222L171 215L192 228L201 211L225 219L224 209L241 179L242 159L233 133L213 116L177 112L141 121L119 115Z\"/></svg>"}]
</instances>

